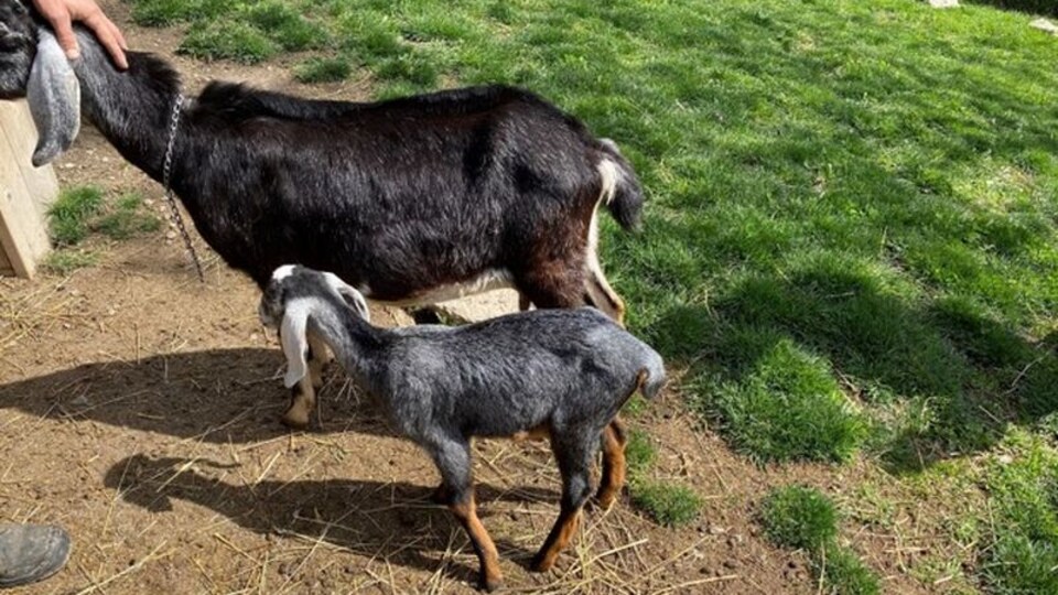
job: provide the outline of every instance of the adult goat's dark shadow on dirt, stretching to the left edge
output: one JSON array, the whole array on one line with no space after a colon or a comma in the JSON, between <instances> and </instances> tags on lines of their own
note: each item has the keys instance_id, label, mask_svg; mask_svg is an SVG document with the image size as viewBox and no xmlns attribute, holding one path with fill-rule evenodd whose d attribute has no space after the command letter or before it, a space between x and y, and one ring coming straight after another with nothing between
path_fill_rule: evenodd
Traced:
<instances>
[{"instance_id":1,"label":"adult goat's dark shadow on dirt, stretching to the left edge","mask_svg":"<svg viewBox=\"0 0 1058 595\"><path fill-rule=\"evenodd\" d=\"M236 348L85 364L0 385L0 409L46 419L87 419L119 428L250 443L289 432L290 402L276 349ZM393 435L371 399L346 385L334 364L324 374L313 430Z\"/></svg>"}]
</instances>

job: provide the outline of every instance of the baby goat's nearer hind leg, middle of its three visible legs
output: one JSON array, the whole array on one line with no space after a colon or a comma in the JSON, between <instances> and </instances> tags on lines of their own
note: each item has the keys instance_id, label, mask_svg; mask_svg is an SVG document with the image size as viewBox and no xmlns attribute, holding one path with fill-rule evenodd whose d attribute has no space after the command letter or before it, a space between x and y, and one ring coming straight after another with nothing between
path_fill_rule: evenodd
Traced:
<instances>
[{"instance_id":1,"label":"baby goat's nearer hind leg, middle of its three visible legs","mask_svg":"<svg viewBox=\"0 0 1058 595\"><path fill-rule=\"evenodd\" d=\"M598 447L600 433L580 433L574 430L574 435L552 434L551 451L562 473L562 505L559 519L554 522L548 539L532 558L529 570L533 572L551 570L559 552L576 533L581 509L584 508L584 502L592 493L592 458Z\"/></svg>"}]
</instances>

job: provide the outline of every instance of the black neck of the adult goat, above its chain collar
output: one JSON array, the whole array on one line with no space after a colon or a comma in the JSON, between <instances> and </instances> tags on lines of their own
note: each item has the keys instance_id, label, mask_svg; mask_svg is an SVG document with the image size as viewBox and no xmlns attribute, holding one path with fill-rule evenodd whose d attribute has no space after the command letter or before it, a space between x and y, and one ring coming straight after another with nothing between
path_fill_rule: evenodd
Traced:
<instances>
[{"instance_id":1,"label":"black neck of the adult goat, above its chain collar","mask_svg":"<svg viewBox=\"0 0 1058 595\"><path fill-rule=\"evenodd\" d=\"M129 69L119 72L91 33L78 29L77 42L82 57L73 66L85 116L121 156L161 181L180 93L175 72L159 58L133 52L128 53Z\"/></svg>"}]
</instances>

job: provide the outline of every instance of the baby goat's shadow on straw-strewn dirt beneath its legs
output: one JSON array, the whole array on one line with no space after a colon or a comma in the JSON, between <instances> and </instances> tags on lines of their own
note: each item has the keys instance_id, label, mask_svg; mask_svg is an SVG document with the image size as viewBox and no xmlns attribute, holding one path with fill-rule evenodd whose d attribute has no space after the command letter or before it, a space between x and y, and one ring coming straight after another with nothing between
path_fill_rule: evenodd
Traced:
<instances>
[{"instance_id":1,"label":"baby goat's shadow on straw-strewn dirt beneath its legs","mask_svg":"<svg viewBox=\"0 0 1058 595\"><path fill-rule=\"evenodd\" d=\"M227 468L202 459L137 454L111 466L104 484L125 501L150 512L170 511L172 500L184 500L212 509L261 536L305 536L367 559L385 559L430 573L438 570L441 555L430 558L423 552L444 552L447 536L453 530L462 532L445 507L430 501L432 486L364 479L266 480L236 486L198 472L206 467ZM501 490L477 484L476 494L481 502L558 501L554 491L531 487ZM554 512L558 513L558 507ZM487 522L487 506L479 513ZM535 553L504 539L496 540L496 547L500 556L525 567ZM445 564L444 572L450 577L473 582L477 576L476 560L471 565Z\"/></svg>"}]
</instances>

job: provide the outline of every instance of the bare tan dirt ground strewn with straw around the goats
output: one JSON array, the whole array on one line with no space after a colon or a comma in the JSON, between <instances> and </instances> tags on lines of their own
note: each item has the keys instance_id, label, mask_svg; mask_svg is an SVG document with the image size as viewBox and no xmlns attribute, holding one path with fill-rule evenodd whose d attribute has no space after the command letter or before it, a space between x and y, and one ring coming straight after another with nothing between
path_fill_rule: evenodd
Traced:
<instances>
[{"instance_id":1,"label":"bare tan dirt ground strewn with straw around the goats","mask_svg":"<svg viewBox=\"0 0 1058 595\"><path fill-rule=\"evenodd\" d=\"M370 84L303 87L281 62L248 68L173 56L179 32L139 29L123 6L102 3L132 47L174 60L191 89L217 77L356 99ZM63 185L136 190L164 206L161 187L90 127L56 172ZM102 261L69 278L0 280L0 521L55 522L74 538L63 572L15 593L473 592L467 539L428 500L432 464L391 435L339 370L328 370L311 431L280 425L283 360L257 321L258 292L196 242L205 284L164 229L96 244ZM382 324L398 320L376 313ZM768 545L754 511L769 486L833 491L848 477L758 468L680 401L670 388L629 423L659 448L655 475L704 498L699 520L659 527L625 495L608 513L589 511L546 574L526 570L558 512L546 445L475 446L481 513L508 592L816 591L807 559ZM867 562L887 591L920 588L886 553L888 539L859 538Z\"/></svg>"}]
</instances>

